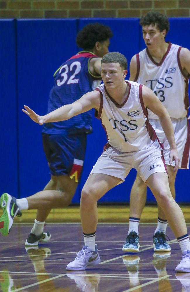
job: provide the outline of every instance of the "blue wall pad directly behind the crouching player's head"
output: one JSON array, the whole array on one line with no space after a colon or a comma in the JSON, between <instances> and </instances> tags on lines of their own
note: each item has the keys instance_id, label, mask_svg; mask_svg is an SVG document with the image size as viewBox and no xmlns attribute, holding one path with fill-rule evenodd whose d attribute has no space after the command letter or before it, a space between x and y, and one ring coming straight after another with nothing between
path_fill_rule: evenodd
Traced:
<instances>
[{"instance_id":1,"label":"blue wall pad directly behind the crouching player's head","mask_svg":"<svg viewBox=\"0 0 190 292\"><path fill-rule=\"evenodd\" d=\"M132 56L138 53L139 49L139 20L138 18L94 18L94 19L80 19L79 29L89 22L100 22L104 25L108 25L112 32L113 37L110 39L109 51L118 51L125 55L128 60L128 70L129 62ZM135 32L135 34L134 34ZM129 72L127 74L129 78ZM92 166L96 163L96 160L103 152L103 146L106 144L106 135L101 126L101 122L93 117L93 133L88 135L87 139L87 150L84 161L84 170L80 183L80 190L87 180L87 177L92 169ZM120 184L114 189L110 190L100 202L122 202L129 201L130 189L132 186L132 181L134 180L134 170L126 178L125 183Z\"/></svg>"}]
</instances>

